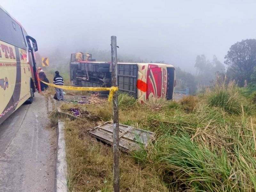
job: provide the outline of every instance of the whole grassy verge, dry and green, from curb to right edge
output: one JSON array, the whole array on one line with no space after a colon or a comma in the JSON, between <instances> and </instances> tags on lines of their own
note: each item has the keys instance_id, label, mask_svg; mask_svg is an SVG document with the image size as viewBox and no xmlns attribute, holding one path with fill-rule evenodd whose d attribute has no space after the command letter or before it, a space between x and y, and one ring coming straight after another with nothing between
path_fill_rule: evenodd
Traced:
<instances>
[{"instance_id":1,"label":"whole grassy verge, dry and green, from curb to right edge","mask_svg":"<svg viewBox=\"0 0 256 192\"><path fill-rule=\"evenodd\" d=\"M256 116L248 92L220 82L178 102L143 105L120 94L120 123L156 133L147 148L121 153L121 191L255 191ZM101 121L66 119L69 191L112 191L112 148L86 134L111 121L111 103L76 107Z\"/></svg>"}]
</instances>

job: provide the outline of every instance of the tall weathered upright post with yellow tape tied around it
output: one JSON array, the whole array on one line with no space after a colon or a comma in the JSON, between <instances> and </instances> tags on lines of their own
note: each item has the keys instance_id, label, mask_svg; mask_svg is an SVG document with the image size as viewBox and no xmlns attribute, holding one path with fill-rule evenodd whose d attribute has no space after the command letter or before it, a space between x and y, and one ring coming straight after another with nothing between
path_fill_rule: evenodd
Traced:
<instances>
[{"instance_id":1,"label":"tall weathered upright post with yellow tape tied around it","mask_svg":"<svg viewBox=\"0 0 256 192\"><path fill-rule=\"evenodd\" d=\"M111 36L112 86L117 87L116 36ZM118 92L113 95L113 191L120 191Z\"/></svg>"}]
</instances>

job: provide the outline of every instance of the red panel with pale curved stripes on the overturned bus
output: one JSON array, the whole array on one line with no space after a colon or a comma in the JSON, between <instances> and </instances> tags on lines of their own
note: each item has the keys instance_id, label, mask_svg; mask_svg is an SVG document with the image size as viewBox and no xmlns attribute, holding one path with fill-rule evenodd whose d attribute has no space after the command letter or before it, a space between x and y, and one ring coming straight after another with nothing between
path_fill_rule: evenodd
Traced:
<instances>
[{"instance_id":1,"label":"red panel with pale curved stripes on the overturned bus","mask_svg":"<svg viewBox=\"0 0 256 192\"><path fill-rule=\"evenodd\" d=\"M162 68L157 65L148 65L147 84L146 99L150 97L160 98L162 96Z\"/></svg>"}]
</instances>

